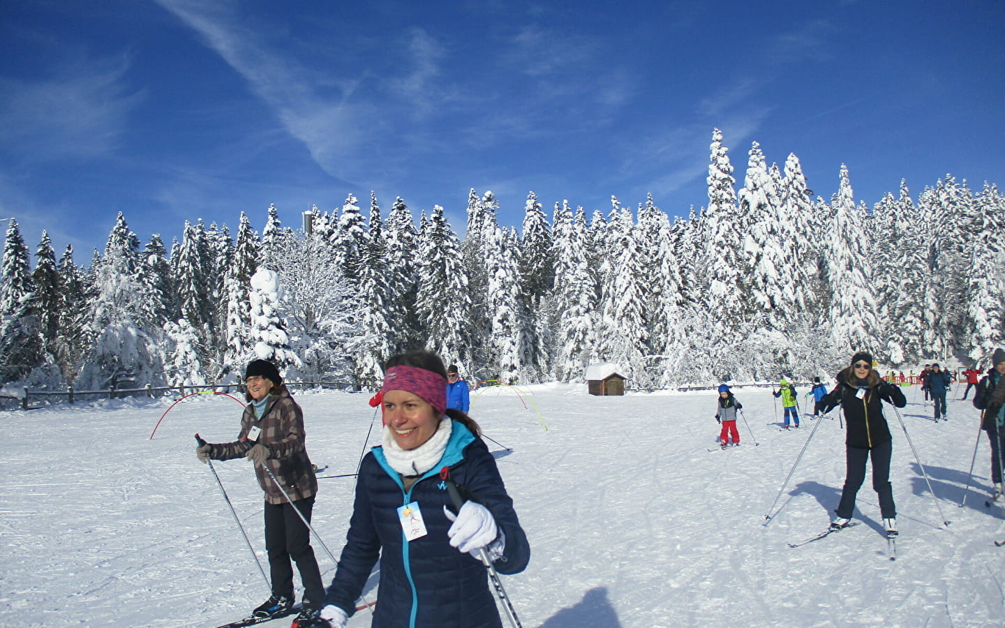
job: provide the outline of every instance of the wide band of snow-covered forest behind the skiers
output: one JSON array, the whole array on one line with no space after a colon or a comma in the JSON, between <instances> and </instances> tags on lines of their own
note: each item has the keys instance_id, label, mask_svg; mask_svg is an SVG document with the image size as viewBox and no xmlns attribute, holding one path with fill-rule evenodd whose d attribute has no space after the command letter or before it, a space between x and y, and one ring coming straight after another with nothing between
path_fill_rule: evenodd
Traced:
<instances>
[{"instance_id":1,"label":"wide band of snow-covered forest behind the skiers","mask_svg":"<svg viewBox=\"0 0 1005 628\"><path fill-rule=\"evenodd\" d=\"M896 367L977 362L1005 340L1005 199L951 175L869 206L848 169L829 201L799 160L753 143L742 187L717 129L709 198L673 219L651 195L549 219L531 192L520 231L471 190L463 237L434 206L415 221L350 194L296 229L270 206L186 222L170 250L120 213L89 265L42 232L34 267L11 220L0 268L0 383L78 390L233 382L252 357L288 379L369 383L388 356L439 352L468 379L581 381L621 366L669 387L832 371L866 349Z\"/></svg>"}]
</instances>

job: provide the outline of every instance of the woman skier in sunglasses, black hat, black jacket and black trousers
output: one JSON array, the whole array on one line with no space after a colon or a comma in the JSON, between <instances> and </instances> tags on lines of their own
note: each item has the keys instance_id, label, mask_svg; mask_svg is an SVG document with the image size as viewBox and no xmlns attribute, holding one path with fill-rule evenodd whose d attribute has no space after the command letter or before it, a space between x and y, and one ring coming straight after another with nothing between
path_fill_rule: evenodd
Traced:
<instances>
[{"instance_id":1,"label":"woman skier in sunglasses, black hat, black jacket and black trousers","mask_svg":"<svg viewBox=\"0 0 1005 628\"><path fill-rule=\"evenodd\" d=\"M872 460L872 488L879 496L879 510L887 536L896 535L896 505L893 488L889 483L889 461L893 451L889 427L882 415L882 400L897 408L908 405L899 387L884 382L872 369L872 356L858 352L851 357L851 366L837 374L837 386L821 404L830 412L838 405L844 411L847 436L844 441L847 472L841 501L837 505L837 518L831 530L840 530L851 520L855 509L855 495L865 481L865 463Z\"/></svg>"}]
</instances>

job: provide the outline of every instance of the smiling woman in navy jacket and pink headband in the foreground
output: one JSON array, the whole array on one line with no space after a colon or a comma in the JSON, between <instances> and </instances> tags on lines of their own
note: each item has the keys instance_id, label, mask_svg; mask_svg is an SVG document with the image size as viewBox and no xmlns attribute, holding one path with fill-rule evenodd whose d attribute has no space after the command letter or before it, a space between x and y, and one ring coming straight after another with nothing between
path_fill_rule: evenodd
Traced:
<instances>
[{"instance_id":1,"label":"smiling woman in navy jacket and pink headband in the foreground","mask_svg":"<svg viewBox=\"0 0 1005 628\"><path fill-rule=\"evenodd\" d=\"M391 358L381 392L383 444L360 467L323 620L346 625L379 558L373 628L501 627L479 551L497 573L517 574L531 550L495 459L477 424L445 408L446 370L436 354ZM448 510L444 467L471 493L457 514Z\"/></svg>"}]
</instances>

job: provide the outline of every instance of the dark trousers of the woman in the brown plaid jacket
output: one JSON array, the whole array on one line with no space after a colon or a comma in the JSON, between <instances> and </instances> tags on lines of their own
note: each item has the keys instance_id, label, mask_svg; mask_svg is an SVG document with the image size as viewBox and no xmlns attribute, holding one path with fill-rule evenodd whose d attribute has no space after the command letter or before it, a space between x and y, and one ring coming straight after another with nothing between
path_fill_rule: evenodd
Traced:
<instances>
[{"instance_id":1,"label":"dark trousers of the woman in the brown plaid jacket","mask_svg":"<svg viewBox=\"0 0 1005 628\"><path fill-rule=\"evenodd\" d=\"M311 548L311 530L304 525L293 511L293 506L304 518L311 520L314 497L290 503L265 503L265 550L268 552L268 568L272 577L272 595L293 597L292 559L300 572L304 584L304 598L321 608L325 599L325 585L321 580L321 569Z\"/></svg>"}]
</instances>

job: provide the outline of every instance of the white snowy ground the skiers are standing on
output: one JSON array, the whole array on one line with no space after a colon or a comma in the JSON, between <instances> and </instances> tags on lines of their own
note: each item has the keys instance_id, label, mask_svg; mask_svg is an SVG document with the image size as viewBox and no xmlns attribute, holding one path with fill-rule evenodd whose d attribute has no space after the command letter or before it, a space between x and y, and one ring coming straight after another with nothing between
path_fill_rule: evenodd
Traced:
<instances>
[{"instance_id":1,"label":"white snowy ground the skiers are standing on","mask_svg":"<svg viewBox=\"0 0 1005 628\"><path fill-rule=\"evenodd\" d=\"M951 401L949 422L936 424L912 390L901 412L938 502L887 410L901 534L890 562L868 479L856 512L864 525L786 545L824 530L836 505L844 476L837 420L820 424L766 526L815 422L780 432L770 392L738 389L760 444L741 421L741 447L709 452L718 436L715 392L598 398L583 388L528 387L527 408L513 391L494 389L472 405L485 434L512 448L488 441L533 550L525 573L504 577L524 626L1005 624L1005 548L993 544L1005 528L1002 512L984 504L983 435L976 491L958 507L977 437L969 401ZM295 396L309 452L330 465L323 474L354 472L374 419L368 396ZM213 627L267 597L193 453L197 431L210 441L233 438L240 408L223 396L188 399L149 439L170 401L0 412L0 625ZM261 491L249 463L216 469L264 562ZM315 527L336 556L353 481L320 480ZM332 561L315 548L328 581ZM288 620L264 624L273 625ZM350 621L368 625L365 612Z\"/></svg>"}]
</instances>

